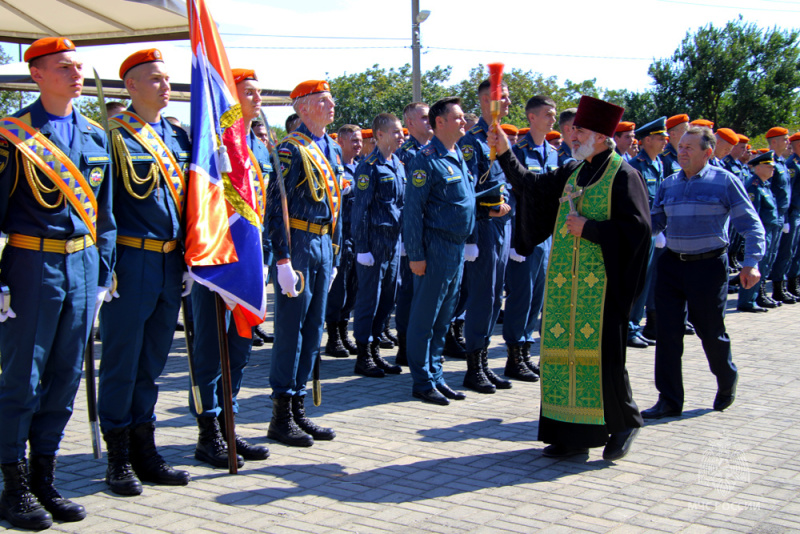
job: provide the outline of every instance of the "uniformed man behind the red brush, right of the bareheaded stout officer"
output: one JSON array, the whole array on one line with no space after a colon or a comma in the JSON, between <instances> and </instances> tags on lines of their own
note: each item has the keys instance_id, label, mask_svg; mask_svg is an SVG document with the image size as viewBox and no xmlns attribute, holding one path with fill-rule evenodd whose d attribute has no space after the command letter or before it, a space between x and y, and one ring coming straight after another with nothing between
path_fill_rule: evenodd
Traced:
<instances>
[{"instance_id":1,"label":"uniformed man behind the red brush, right of the bareheaded stout officer","mask_svg":"<svg viewBox=\"0 0 800 534\"><path fill-rule=\"evenodd\" d=\"M467 168L475 177L475 192L505 185L500 164L489 160L486 136L492 120L489 80L478 86L481 118L458 142ZM498 119L508 115L511 99L508 87L502 87ZM492 330L500 314L506 263L511 242L510 206L502 188L499 194L483 197L475 211L475 229L464 248L464 287L466 291L464 339L467 351L467 374L464 386L479 393L508 389L511 382L495 375L489 368L488 350ZM463 297L462 297L463 299Z\"/></svg>"}]
</instances>

